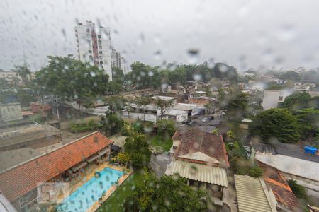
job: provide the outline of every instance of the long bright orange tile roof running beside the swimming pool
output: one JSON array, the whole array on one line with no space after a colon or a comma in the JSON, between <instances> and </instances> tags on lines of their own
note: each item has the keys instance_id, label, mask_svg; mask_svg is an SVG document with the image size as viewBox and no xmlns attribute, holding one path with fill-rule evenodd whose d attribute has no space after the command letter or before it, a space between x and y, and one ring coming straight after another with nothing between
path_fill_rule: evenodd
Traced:
<instances>
[{"instance_id":1,"label":"long bright orange tile roof running beside the swimming pool","mask_svg":"<svg viewBox=\"0 0 319 212\"><path fill-rule=\"evenodd\" d=\"M35 189L38 182L47 182L112 143L99 131L84 136L55 151L1 172L0 190L9 201L15 201Z\"/></svg>"}]
</instances>

